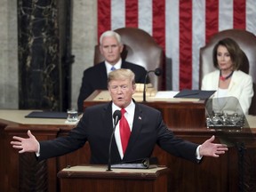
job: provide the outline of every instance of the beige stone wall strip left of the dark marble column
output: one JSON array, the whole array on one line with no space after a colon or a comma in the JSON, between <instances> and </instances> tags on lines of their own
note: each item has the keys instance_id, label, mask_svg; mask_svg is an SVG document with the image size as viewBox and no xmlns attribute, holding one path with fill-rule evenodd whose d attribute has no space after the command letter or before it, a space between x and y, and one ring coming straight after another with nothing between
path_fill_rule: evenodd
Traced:
<instances>
[{"instance_id":1,"label":"beige stone wall strip left of the dark marble column","mask_svg":"<svg viewBox=\"0 0 256 192\"><path fill-rule=\"evenodd\" d=\"M0 28L0 108L18 108L16 0L0 0Z\"/></svg>"}]
</instances>

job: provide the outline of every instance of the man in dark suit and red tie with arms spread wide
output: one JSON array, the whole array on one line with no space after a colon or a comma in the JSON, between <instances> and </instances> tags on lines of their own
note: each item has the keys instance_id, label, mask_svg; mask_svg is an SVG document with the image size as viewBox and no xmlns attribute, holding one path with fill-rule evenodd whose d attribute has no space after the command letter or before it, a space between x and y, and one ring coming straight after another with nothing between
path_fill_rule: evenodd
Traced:
<instances>
[{"instance_id":1,"label":"man in dark suit and red tie with arms spread wide","mask_svg":"<svg viewBox=\"0 0 256 192\"><path fill-rule=\"evenodd\" d=\"M108 92L112 101L86 108L76 128L67 137L38 142L28 131L27 139L14 136L12 147L20 149L19 153L36 152L38 159L43 160L68 154L82 148L88 141L92 153L91 163L108 164L108 146L116 121L113 114L122 109L125 110L124 116L116 125L111 148L112 163L150 157L156 144L173 156L195 163L203 156L218 157L228 150L224 144L213 143L214 136L202 145L175 137L164 124L160 111L132 100L135 90L134 73L130 69L116 69L108 75ZM124 121L127 122L127 137L122 131ZM128 139L127 146L123 143L122 134Z\"/></svg>"}]
</instances>

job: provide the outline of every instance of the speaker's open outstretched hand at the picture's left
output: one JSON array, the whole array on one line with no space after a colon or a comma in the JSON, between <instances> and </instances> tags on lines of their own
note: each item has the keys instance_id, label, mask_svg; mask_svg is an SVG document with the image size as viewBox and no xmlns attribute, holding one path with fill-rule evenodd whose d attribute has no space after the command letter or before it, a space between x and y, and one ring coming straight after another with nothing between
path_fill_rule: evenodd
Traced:
<instances>
[{"instance_id":1,"label":"speaker's open outstretched hand at the picture's left","mask_svg":"<svg viewBox=\"0 0 256 192\"><path fill-rule=\"evenodd\" d=\"M39 142L36 140L36 137L28 130L28 138L21 138L13 136L11 141L12 148L20 149L19 153L24 152L38 152Z\"/></svg>"}]
</instances>

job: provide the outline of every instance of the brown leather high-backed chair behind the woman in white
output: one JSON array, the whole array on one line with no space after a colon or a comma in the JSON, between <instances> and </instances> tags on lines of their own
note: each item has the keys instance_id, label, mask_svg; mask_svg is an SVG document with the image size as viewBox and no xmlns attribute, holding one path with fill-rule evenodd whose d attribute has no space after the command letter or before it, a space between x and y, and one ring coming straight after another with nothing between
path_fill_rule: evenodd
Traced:
<instances>
[{"instance_id":1,"label":"brown leather high-backed chair behind the woman in white","mask_svg":"<svg viewBox=\"0 0 256 192\"><path fill-rule=\"evenodd\" d=\"M240 69L252 76L254 95L252 97L249 114L256 115L256 36L249 31L242 29L220 31L213 35L209 43L200 49L199 87L201 88L204 75L216 69L213 67L212 50L214 45L225 37L234 39L244 52L244 62Z\"/></svg>"}]
</instances>

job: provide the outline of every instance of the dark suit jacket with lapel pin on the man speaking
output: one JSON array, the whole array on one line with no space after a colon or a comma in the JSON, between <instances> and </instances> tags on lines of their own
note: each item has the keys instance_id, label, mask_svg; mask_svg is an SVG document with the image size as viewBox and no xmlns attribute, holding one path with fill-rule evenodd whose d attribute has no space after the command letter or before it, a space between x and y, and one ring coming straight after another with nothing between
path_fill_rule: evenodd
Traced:
<instances>
[{"instance_id":1,"label":"dark suit jacket with lapel pin on the man speaking","mask_svg":"<svg viewBox=\"0 0 256 192\"><path fill-rule=\"evenodd\" d=\"M68 137L40 141L39 160L62 156L82 148L88 141L92 153L91 164L108 164L108 146L112 132L112 102L86 108L84 116ZM174 156L197 162L197 144L176 138L172 131L167 129L158 110L135 102L132 133L123 161L150 157L156 144ZM111 162L121 161L114 137Z\"/></svg>"}]
</instances>

